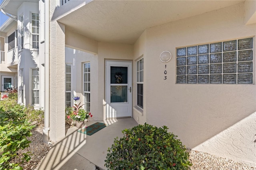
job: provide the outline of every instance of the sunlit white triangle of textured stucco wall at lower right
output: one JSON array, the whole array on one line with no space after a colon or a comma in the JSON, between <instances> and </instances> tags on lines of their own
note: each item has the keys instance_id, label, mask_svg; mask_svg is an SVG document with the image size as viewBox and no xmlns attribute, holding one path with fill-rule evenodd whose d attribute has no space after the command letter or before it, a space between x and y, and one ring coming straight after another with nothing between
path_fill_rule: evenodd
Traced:
<instances>
[{"instance_id":1,"label":"sunlit white triangle of textured stucco wall at lower right","mask_svg":"<svg viewBox=\"0 0 256 170\"><path fill-rule=\"evenodd\" d=\"M256 113L194 147L202 152L256 166ZM228 148L228 149L227 149ZM244 158L247 159L244 159Z\"/></svg>"}]
</instances>

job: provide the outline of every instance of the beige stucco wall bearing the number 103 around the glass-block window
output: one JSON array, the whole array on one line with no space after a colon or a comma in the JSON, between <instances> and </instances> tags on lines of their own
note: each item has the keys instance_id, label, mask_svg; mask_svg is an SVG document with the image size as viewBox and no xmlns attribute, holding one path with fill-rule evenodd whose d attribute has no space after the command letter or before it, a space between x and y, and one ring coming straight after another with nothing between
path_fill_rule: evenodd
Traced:
<instances>
[{"instance_id":1,"label":"beige stucco wall bearing the number 103 around the glass-block window","mask_svg":"<svg viewBox=\"0 0 256 170\"><path fill-rule=\"evenodd\" d=\"M248 119L253 125L229 131L231 134L248 133L246 136L230 135L229 140L223 138L223 141L209 142L211 147L204 143L204 147L197 148L255 166L255 144L252 141L256 127L252 115L256 111L255 74L252 85L176 84L176 47L254 37L255 34L255 24L244 24L244 4L149 28L144 57L147 123L168 126L183 144L194 148L251 115ZM165 63L159 59L165 50L172 53L166 69ZM255 55L254 50L254 59ZM236 145L234 141L238 141ZM237 152L236 156L230 152L239 149L243 152Z\"/></svg>"}]
</instances>

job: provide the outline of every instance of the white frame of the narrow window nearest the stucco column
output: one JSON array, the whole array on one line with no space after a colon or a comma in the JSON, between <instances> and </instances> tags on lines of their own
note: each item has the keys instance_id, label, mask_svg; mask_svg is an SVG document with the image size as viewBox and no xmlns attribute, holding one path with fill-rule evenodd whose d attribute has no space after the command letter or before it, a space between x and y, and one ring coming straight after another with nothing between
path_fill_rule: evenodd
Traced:
<instances>
[{"instance_id":1,"label":"white frame of the narrow window nearest the stucco column","mask_svg":"<svg viewBox=\"0 0 256 170\"><path fill-rule=\"evenodd\" d=\"M70 71L67 70L70 67ZM70 81L67 80L67 76L70 75ZM70 89L67 89L67 85L70 83ZM66 64L65 67L65 105L71 107L71 90L72 90L72 64ZM69 104L70 103L70 104Z\"/></svg>"}]
</instances>

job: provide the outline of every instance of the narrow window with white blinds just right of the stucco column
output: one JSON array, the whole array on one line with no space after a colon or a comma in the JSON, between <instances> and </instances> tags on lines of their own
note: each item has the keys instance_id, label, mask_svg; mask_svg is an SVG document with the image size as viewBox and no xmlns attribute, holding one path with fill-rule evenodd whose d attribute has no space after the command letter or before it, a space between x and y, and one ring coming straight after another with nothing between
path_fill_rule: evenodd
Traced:
<instances>
[{"instance_id":1,"label":"narrow window with white blinds just right of the stucco column","mask_svg":"<svg viewBox=\"0 0 256 170\"><path fill-rule=\"evenodd\" d=\"M71 106L71 64L66 64L66 78L65 78L65 102L66 106Z\"/></svg>"}]
</instances>

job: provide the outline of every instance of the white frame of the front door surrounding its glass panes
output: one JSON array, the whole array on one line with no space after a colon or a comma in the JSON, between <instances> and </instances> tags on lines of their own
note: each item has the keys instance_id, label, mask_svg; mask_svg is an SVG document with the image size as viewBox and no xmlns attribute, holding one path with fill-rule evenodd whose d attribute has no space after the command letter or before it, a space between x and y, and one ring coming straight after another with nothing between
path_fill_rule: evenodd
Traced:
<instances>
[{"instance_id":1,"label":"white frame of the front door surrounding its glass panes","mask_svg":"<svg viewBox=\"0 0 256 170\"><path fill-rule=\"evenodd\" d=\"M130 104L130 106L129 106L129 115L128 116L121 116L121 117L118 117L118 116L116 116L116 117L109 117L108 116L108 109L109 109L109 107L111 107L111 103L110 103L110 101L108 101L108 99L107 99L107 97L108 97L108 95L107 95L107 93L108 93L108 84L107 83L109 83L108 82L108 80L107 80L107 77L108 77L108 71L107 71L107 67L108 67L108 65L110 64L110 65L116 65L116 66L121 66L122 67L122 64L120 64L120 63L124 63L124 65L125 65L125 63L127 63L126 65L130 65L130 66L128 66L128 86L127 86L127 93L128 93L128 103ZM115 64L116 63L116 64ZM109 66L110 66L109 65ZM104 100L105 100L105 102L104 102L104 119L116 119L116 118L127 118L127 117L132 117L132 105L133 105L133 90L132 90L132 81L133 81L133 79L132 79L132 60L111 60L111 59L105 59L105 69L104 69L104 71L105 71L105 77L104 77L104 79L105 79L105 83L104 83L104 85L105 85L105 88L104 88L104 91L105 91L105 93L104 93ZM131 92L130 92L130 87L131 87ZM122 105L122 104L124 104L124 103L120 103L120 105ZM116 105L116 104L115 104Z\"/></svg>"}]
</instances>

